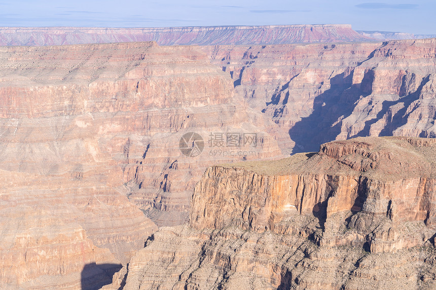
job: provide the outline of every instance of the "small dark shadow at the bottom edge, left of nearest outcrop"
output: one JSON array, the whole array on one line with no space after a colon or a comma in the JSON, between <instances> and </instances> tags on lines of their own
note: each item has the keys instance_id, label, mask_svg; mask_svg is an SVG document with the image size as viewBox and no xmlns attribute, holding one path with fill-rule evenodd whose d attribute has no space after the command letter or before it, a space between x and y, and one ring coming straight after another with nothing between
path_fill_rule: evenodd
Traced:
<instances>
[{"instance_id":1,"label":"small dark shadow at the bottom edge, left of nearest outcrop","mask_svg":"<svg viewBox=\"0 0 436 290\"><path fill-rule=\"evenodd\" d=\"M121 270L121 264L86 264L81 273L82 290L98 290L112 283L112 276Z\"/></svg>"}]
</instances>

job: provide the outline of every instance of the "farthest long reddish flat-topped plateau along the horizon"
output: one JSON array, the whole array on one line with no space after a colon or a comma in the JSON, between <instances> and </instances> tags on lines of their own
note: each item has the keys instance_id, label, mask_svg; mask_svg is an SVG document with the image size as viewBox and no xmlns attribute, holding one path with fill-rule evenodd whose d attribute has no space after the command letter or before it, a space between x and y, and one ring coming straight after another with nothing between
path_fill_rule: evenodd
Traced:
<instances>
[{"instance_id":1,"label":"farthest long reddish flat-topped plateau along the horizon","mask_svg":"<svg viewBox=\"0 0 436 290\"><path fill-rule=\"evenodd\" d=\"M346 24L164 28L0 27L2 46L146 42L159 45L255 45L374 41Z\"/></svg>"}]
</instances>

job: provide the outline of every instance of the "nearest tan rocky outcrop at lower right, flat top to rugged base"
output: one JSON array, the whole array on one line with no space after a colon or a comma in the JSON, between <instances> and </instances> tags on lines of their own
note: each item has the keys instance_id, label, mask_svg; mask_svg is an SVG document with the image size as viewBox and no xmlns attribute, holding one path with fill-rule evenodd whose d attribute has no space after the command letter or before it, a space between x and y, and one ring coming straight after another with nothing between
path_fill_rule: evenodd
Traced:
<instances>
[{"instance_id":1,"label":"nearest tan rocky outcrop at lower right, flat top to rugged base","mask_svg":"<svg viewBox=\"0 0 436 290\"><path fill-rule=\"evenodd\" d=\"M154 233L103 289L434 289L435 149L358 137L209 167L189 225Z\"/></svg>"}]
</instances>

